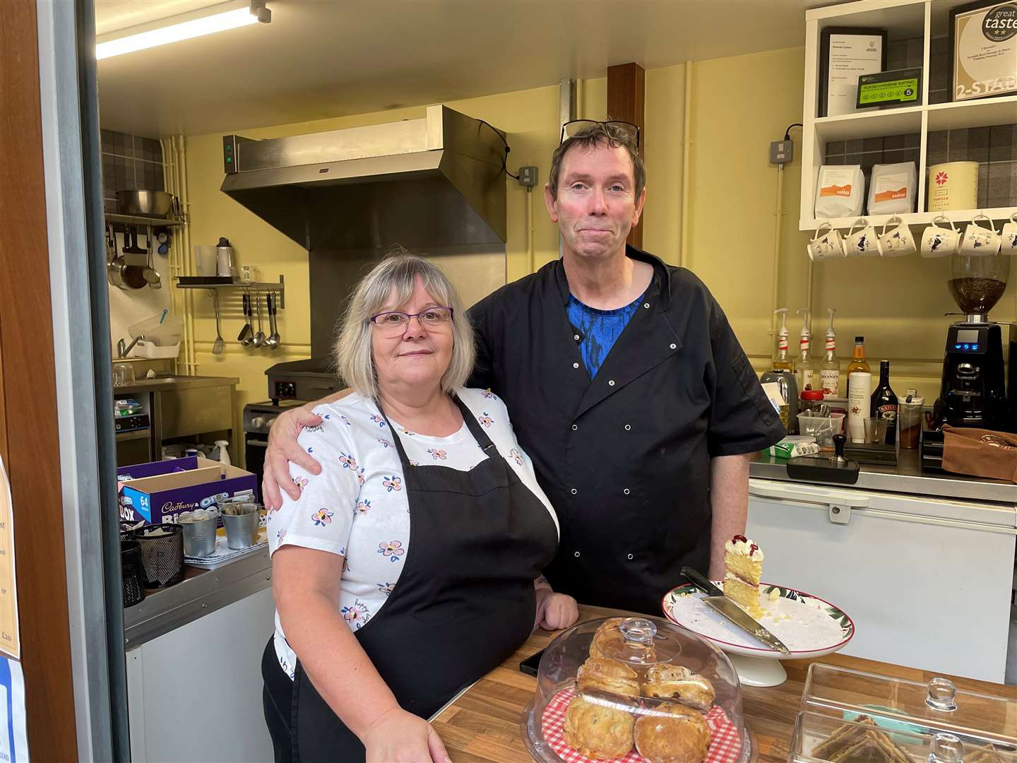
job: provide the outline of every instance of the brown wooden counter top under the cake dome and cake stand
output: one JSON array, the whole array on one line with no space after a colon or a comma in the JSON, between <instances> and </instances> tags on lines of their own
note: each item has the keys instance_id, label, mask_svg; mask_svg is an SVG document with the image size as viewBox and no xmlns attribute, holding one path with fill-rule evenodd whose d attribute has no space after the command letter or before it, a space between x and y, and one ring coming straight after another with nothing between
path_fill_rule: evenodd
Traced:
<instances>
[{"instance_id":1,"label":"brown wooden counter top under the cake dome and cake stand","mask_svg":"<svg viewBox=\"0 0 1017 763\"><path fill-rule=\"evenodd\" d=\"M579 608L580 622L619 613L622 612L595 606ZM536 631L501 666L474 684L433 720L434 727L455 763L517 763L530 760L523 745L520 718L523 708L533 699L537 680L520 672L519 663L547 646L555 635L556 633L547 631ZM783 664L787 670L787 681L781 686L766 689L742 688L745 723L753 736L760 761L784 763L787 760L787 747L801 702L805 672L812 662L826 662L920 682L940 674L841 654L831 654L815 660L785 661ZM991 692L1017 700L1017 687L1004 687L970 679L954 678L953 681L960 689Z\"/></svg>"}]
</instances>

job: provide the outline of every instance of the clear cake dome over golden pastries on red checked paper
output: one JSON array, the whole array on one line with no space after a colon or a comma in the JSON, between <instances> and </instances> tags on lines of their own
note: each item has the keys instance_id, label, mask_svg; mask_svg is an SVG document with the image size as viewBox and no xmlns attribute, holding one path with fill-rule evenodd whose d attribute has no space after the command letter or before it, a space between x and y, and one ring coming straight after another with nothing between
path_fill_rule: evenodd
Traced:
<instances>
[{"instance_id":1,"label":"clear cake dome over golden pastries on red checked paper","mask_svg":"<svg viewBox=\"0 0 1017 763\"><path fill-rule=\"evenodd\" d=\"M658 618L580 623L544 650L523 712L534 760L744 763L738 676L722 651Z\"/></svg>"}]
</instances>

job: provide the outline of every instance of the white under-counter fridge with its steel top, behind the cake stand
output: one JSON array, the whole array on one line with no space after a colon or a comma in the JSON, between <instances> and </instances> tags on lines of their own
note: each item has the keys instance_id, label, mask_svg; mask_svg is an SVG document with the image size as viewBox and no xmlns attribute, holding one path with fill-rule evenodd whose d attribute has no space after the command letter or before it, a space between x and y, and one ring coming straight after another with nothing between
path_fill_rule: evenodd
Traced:
<instances>
[{"instance_id":1,"label":"white under-counter fridge with its steel top, behind the cake stand","mask_svg":"<svg viewBox=\"0 0 1017 763\"><path fill-rule=\"evenodd\" d=\"M899 472L803 482L761 457L746 535L765 553L763 580L842 607L856 626L846 654L1002 684L1017 485L922 476L916 462Z\"/></svg>"}]
</instances>

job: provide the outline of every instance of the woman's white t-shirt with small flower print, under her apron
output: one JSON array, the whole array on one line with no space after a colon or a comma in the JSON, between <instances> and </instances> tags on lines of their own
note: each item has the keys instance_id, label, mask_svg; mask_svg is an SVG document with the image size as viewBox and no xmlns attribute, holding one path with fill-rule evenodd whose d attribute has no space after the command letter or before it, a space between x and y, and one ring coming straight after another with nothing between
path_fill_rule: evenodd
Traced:
<instances>
[{"instance_id":1,"label":"woman's white t-shirt with small flower print, under her apron","mask_svg":"<svg viewBox=\"0 0 1017 763\"><path fill-rule=\"evenodd\" d=\"M537 484L530 458L522 452L504 404L492 393L461 388L460 400L473 413L487 436L546 507L557 527L557 517ZM270 512L268 549L284 545L338 553L344 557L340 583L340 612L356 631L376 617L399 582L410 551L410 505L403 469L393 445L393 432L372 400L354 393L317 406L323 417L306 427L297 443L321 465L317 475L290 464L290 475L300 486L300 497L283 494L283 506ZM399 430L406 457L415 466L437 464L469 471L484 454L463 422L447 437L431 437L392 425ZM286 641L276 612L276 655L293 678L296 655Z\"/></svg>"}]
</instances>

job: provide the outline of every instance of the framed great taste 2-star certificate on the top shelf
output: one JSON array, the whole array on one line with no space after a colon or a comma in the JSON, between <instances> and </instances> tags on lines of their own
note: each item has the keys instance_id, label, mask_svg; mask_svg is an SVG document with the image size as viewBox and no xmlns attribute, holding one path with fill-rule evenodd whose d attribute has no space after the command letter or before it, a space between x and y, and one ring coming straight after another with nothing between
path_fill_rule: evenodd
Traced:
<instances>
[{"instance_id":1,"label":"framed great taste 2-star certificate on the top shelf","mask_svg":"<svg viewBox=\"0 0 1017 763\"><path fill-rule=\"evenodd\" d=\"M954 101L1017 93L1017 2L977 0L950 10Z\"/></svg>"}]
</instances>

